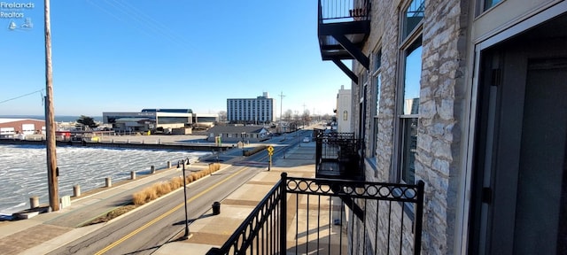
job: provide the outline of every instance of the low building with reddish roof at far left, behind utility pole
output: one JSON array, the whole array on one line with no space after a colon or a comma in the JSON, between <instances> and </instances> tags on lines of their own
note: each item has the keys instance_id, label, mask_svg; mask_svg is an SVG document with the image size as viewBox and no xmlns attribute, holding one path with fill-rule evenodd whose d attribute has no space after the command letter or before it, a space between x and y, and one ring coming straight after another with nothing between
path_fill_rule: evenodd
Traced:
<instances>
[{"instance_id":1,"label":"low building with reddish roof at far left, behind utility pole","mask_svg":"<svg viewBox=\"0 0 567 255\"><path fill-rule=\"evenodd\" d=\"M34 134L45 134L45 120L0 119L0 138Z\"/></svg>"}]
</instances>

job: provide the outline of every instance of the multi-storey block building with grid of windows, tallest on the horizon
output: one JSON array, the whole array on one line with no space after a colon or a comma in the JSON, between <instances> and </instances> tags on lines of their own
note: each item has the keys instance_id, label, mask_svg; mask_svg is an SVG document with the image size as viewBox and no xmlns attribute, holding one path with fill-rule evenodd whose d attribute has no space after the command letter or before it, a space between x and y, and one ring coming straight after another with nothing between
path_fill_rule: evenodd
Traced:
<instances>
[{"instance_id":1,"label":"multi-storey block building with grid of windows, tallest on the horizon","mask_svg":"<svg viewBox=\"0 0 567 255\"><path fill-rule=\"evenodd\" d=\"M256 98L227 99L227 117L233 123L268 124L276 121L275 109L276 100L268 92Z\"/></svg>"}]
</instances>

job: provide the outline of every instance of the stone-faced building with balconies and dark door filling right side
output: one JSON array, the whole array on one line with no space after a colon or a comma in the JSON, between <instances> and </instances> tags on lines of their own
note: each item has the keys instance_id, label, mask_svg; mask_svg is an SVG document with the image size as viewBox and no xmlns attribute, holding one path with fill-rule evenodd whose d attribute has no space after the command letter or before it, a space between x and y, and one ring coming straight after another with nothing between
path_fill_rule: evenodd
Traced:
<instances>
[{"instance_id":1,"label":"stone-faced building with balconies and dark door filling right side","mask_svg":"<svg viewBox=\"0 0 567 255\"><path fill-rule=\"evenodd\" d=\"M421 253L566 254L567 1L338 3L314 13L322 59L353 81L364 180L425 183ZM414 209L357 223L350 251Z\"/></svg>"}]
</instances>

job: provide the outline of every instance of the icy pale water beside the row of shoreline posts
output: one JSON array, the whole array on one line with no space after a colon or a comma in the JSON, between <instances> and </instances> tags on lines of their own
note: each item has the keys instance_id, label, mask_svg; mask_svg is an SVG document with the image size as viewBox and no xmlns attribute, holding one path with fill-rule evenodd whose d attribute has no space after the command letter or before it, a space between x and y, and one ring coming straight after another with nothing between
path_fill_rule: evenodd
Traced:
<instances>
[{"instance_id":1,"label":"icy pale water beside the row of shoreline posts","mask_svg":"<svg viewBox=\"0 0 567 255\"><path fill-rule=\"evenodd\" d=\"M210 154L201 151L153 151L58 147L59 196L72 196L73 186L82 192L105 186L105 178L113 182L128 180L130 172L148 174L150 167L176 164L185 158ZM49 203L47 156L44 145L0 145L0 214L29 208L29 197L39 197L40 204Z\"/></svg>"}]
</instances>

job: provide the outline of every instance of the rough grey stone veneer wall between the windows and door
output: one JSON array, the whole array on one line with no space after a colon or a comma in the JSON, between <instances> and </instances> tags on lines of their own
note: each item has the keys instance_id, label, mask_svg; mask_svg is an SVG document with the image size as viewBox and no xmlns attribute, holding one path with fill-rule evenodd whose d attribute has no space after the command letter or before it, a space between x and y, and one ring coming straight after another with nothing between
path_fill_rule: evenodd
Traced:
<instances>
[{"instance_id":1,"label":"rough grey stone veneer wall between the windows and door","mask_svg":"<svg viewBox=\"0 0 567 255\"><path fill-rule=\"evenodd\" d=\"M392 3L394 2L394 3ZM363 48L363 52L371 58L375 50L382 49L382 88L380 98L380 113L378 115L378 135L376 151L376 168L366 164L367 181L392 182L392 157L393 153L394 121L396 107L396 91L398 88L398 59L400 54L399 42L399 15L404 1L373 1L372 4L372 28L369 40ZM420 116L417 135L416 152L416 179L425 182L425 202L423 215L423 254L453 254L453 243L455 224L456 192L460 168L461 148L461 125L464 99L464 72L467 43L467 20L470 1L461 0L425 0L425 18L423 19L423 72L420 95ZM357 74L362 72L363 67L354 62L353 71ZM370 70L370 77L372 70ZM369 149L368 137L373 132L373 115L371 102L375 84L370 83L367 89L367 112L366 116L366 148ZM362 84L361 84L362 85ZM359 102L359 89L362 86L353 84L353 95ZM358 110L359 104L353 107ZM358 111L357 111L358 112ZM358 127L359 118L354 119ZM355 128L358 132L358 128ZM393 160L397 160L394 158ZM380 205L378 212L385 212ZM367 205L367 233L364 235L369 242L364 249L369 254L374 254L378 247L378 254L384 251L384 229L373 229L376 226L376 203ZM398 212L398 211L397 211ZM398 214L394 214L400 217ZM386 215L384 215L386 217ZM384 222L382 222L384 221ZM395 222L395 220L394 220ZM382 217L380 225L387 224ZM405 222L406 223L406 222ZM399 223L398 223L399 224ZM363 231L363 230L359 230ZM378 235L378 245L375 243ZM391 236L399 238L400 233ZM406 239L406 238L405 238ZM406 243L406 241L404 241ZM408 246L411 240L407 240ZM369 244L370 243L370 244ZM405 247L408 248L408 247ZM411 251L405 249L403 254Z\"/></svg>"}]
</instances>

